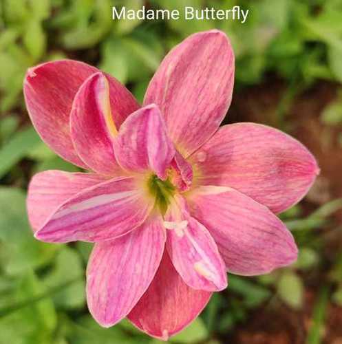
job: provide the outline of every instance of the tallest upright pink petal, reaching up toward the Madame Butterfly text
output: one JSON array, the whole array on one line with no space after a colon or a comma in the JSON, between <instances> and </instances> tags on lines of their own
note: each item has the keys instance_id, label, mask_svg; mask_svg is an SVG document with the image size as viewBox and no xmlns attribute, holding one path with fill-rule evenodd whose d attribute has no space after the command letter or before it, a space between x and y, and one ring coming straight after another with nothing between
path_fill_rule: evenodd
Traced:
<instances>
[{"instance_id":1,"label":"tallest upright pink petal, reaching up toward the Madame Butterfly text","mask_svg":"<svg viewBox=\"0 0 342 344\"><path fill-rule=\"evenodd\" d=\"M156 103L186 158L217 130L233 92L234 54L218 30L189 36L164 58L144 104Z\"/></svg>"}]
</instances>

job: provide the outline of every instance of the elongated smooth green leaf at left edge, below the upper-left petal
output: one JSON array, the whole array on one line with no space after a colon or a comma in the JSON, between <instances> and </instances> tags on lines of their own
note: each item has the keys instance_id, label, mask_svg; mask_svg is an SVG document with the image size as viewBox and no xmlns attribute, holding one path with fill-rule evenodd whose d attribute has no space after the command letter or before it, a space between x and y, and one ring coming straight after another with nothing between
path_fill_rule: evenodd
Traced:
<instances>
[{"instance_id":1,"label":"elongated smooth green leaf at left edge, below the upper-left petal","mask_svg":"<svg viewBox=\"0 0 342 344\"><path fill-rule=\"evenodd\" d=\"M26 127L18 131L13 138L0 149L0 178L3 177L14 164L25 157L28 152L36 147L41 139L33 127Z\"/></svg>"}]
</instances>

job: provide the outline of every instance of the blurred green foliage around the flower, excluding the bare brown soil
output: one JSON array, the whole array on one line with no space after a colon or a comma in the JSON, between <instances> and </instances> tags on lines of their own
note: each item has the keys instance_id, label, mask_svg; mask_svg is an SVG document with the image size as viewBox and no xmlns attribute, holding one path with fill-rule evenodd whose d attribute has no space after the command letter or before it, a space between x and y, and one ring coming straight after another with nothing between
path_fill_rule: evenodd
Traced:
<instances>
[{"instance_id":1,"label":"blurred green foliage around the flower, excluding the bare brown soil","mask_svg":"<svg viewBox=\"0 0 342 344\"><path fill-rule=\"evenodd\" d=\"M142 100L149 79L167 51L189 34L220 28L236 55L237 89L261 83L269 73L292 94L317 80L342 83L341 0L186 0L186 6L250 10L233 21L112 21L111 6L183 8L182 0L0 0L0 344L157 343L127 321L102 329L85 307L84 271L91 245L36 241L25 211L25 189L37 171L78 171L45 147L26 124L22 82L28 67L56 58L97 65L129 85ZM327 125L342 122L341 94L323 111ZM341 139L342 142L342 139ZM220 343L261 305L303 305L303 274L323 264L314 230L325 228L341 200L303 214L282 214L300 246L290 268L248 279L230 276L227 294L211 303L171 343ZM342 305L342 255L328 271L333 292L321 290L308 343L319 343L327 302ZM218 341L218 339L217 339Z\"/></svg>"}]
</instances>

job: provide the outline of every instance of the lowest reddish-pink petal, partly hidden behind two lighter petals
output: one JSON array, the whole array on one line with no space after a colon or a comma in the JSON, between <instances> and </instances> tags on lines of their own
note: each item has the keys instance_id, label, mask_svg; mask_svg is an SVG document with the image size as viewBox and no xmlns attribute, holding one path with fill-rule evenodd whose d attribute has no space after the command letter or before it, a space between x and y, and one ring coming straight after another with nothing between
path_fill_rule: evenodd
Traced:
<instances>
[{"instance_id":1,"label":"lowest reddish-pink petal, partly hidden behind two lighter petals","mask_svg":"<svg viewBox=\"0 0 342 344\"><path fill-rule=\"evenodd\" d=\"M128 318L150 336L167 341L197 318L210 297L211 292L186 286L165 252L151 286Z\"/></svg>"}]
</instances>

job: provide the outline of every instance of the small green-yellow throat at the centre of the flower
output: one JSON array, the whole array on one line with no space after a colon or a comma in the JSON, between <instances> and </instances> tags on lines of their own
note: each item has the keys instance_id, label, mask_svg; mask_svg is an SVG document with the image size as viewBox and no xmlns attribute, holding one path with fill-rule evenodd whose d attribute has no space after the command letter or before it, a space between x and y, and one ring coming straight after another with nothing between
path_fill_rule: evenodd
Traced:
<instances>
[{"instance_id":1,"label":"small green-yellow throat at the centre of the flower","mask_svg":"<svg viewBox=\"0 0 342 344\"><path fill-rule=\"evenodd\" d=\"M164 215L167 211L167 206L170 204L170 199L175 193L175 186L169 179L161 180L156 175L149 178L149 191L156 197L156 206Z\"/></svg>"}]
</instances>

